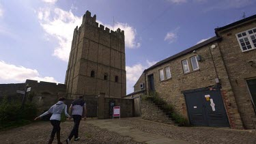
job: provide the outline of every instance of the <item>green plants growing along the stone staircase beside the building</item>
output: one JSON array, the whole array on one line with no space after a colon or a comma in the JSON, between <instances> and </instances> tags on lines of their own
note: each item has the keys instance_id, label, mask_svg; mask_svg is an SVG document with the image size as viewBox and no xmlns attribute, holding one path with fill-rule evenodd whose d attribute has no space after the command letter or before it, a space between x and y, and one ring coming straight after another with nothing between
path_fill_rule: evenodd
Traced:
<instances>
[{"instance_id":1,"label":"green plants growing along the stone staircase beside the building","mask_svg":"<svg viewBox=\"0 0 256 144\"><path fill-rule=\"evenodd\" d=\"M171 118L173 118L179 124L179 126L189 126L188 119L180 114L175 113L173 105L168 104L165 100L160 98L158 93L155 91L150 92L150 96L143 96L143 100L151 100L155 104L162 105L162 109L168 111L168 113L171 113Z\"/></svg>"}]
</instances>

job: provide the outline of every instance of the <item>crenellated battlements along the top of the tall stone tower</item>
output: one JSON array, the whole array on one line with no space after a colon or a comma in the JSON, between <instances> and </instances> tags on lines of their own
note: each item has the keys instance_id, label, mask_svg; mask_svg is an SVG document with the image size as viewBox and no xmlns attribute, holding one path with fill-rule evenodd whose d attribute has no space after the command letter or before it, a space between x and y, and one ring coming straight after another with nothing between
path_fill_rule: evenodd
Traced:
<instances>
[{"instance_id":1,"label":"crenellated battlements along the top of the tall stone tower","mask_svg":"<svg viewBox=\"0 0 256 144\"><path fill-rule=\"evenodd\" d=\"M91 12L89 12L88 10L83 15L83 21L82 21L81 27L83 27L83 25L91 25L93 27L98 27L98 29L100 29L101 31L104 31L111 35L115 35L115 36L117 36L117 38L124 39L124 30L121 30L118 28L116 31L113 31L113 30L109 29L108 27L105 27L104 25L99 25L99 23L96 22L96 14L94 14L94 16L91 17ZM76 28L74 29L73 38L77 33L79 33L81 27L78 28L76 26Z\"/></svg>"}]
</instances>

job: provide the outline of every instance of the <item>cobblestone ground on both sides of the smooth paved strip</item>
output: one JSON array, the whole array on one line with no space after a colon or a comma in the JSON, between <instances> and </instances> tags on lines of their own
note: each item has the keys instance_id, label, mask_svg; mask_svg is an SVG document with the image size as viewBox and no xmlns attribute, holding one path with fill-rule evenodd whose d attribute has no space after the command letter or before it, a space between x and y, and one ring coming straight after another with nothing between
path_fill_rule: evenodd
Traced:
<instances>
[{"instance_id":1,"label":"cobblestone ground on both sides of the smooth paved strip","mask_svg":"<svg viewBox=\"0 0 256 144\"><path fill-rule=\"evenodd\" d=\"M93 120L88 120L93 121ZM230 130L223 128L176 127L158 124L139 118L106 120L119 126L129 126L143 132L160 134L169 139L183 140L190 143L252 143L256 144L256 133L249 130ZM68 136L73 122L61 124L61 139ZM48 121L38 122L20 128L0 132L0 143L47 143L51 132ZM121 136L97 126L81 121L81 141L76 143L138 143L128 136ZM56 143L56 141L54 142Z\"/></svg>"}]
</instances>

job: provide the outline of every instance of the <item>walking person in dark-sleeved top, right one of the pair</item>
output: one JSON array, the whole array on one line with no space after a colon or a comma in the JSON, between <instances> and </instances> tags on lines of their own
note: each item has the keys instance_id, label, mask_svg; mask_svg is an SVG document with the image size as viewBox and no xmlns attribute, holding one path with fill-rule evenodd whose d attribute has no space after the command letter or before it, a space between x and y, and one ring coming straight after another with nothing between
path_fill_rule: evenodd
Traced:
<instances>
[{"instance_id":1,"label":"walking person in dark-sleeved top, right one of the pair","mask_svg":"<svg viewBox=\"0 0 256 144\"><path fill-rule=\"evenodd\" d=\"M70 143L70 140L74 136L74 141L79 141L79 124L84 117L86 119L86 103L83 100L83 96L79 96L79 99L74 100L70 106L70 113L74 120L74 127L72 131L70 132L70 135L68 136L68 139L66 139L66 143Z\"/></svg>"}]
</instances>

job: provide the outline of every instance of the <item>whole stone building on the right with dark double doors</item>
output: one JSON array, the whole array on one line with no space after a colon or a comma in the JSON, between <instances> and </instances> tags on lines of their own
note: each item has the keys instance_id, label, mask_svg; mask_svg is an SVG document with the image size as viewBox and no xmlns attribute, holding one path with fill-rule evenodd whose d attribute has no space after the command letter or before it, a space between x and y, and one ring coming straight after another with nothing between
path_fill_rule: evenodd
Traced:
<instances>
[{"instance_id":1,"label":"whole stone building on the right with dark double doors","mask_svg":"<svg viewBox=\"0 0 256 144\"><path fill-rule=\"evenodd\" d=\"M194 126L254 128L256 15L147 68L132 95L156 91Z\"/></svg>"}]
</instances>

